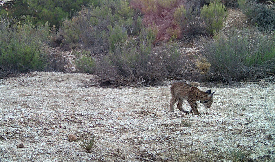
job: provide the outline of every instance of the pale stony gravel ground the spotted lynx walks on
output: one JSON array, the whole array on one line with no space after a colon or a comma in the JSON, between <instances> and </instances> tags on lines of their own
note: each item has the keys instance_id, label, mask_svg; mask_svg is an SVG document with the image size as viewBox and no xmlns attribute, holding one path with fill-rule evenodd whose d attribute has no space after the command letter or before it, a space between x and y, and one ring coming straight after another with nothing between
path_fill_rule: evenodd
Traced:
<instances>
[{"instance_id":1,"label":"pale stony gravel ground the spotted lynx walks on","mask_svg":"<svg viewBox=\"0 0 275 162\"><path fill-rule=\"evenodd\" d=\"M169 112L170 86L98 88L89 86L93 79L32 72L0 80L0 161L176 161L177 155L228 161L230 150L275 159L275 128L261 108L268 82L212 88L214 103L199 103L196 116L176 105ZM266 101L273 119L274 98L271 84ZM94 135L96 143L88 153L69 134Z\"/></svg>"}]
</instances>

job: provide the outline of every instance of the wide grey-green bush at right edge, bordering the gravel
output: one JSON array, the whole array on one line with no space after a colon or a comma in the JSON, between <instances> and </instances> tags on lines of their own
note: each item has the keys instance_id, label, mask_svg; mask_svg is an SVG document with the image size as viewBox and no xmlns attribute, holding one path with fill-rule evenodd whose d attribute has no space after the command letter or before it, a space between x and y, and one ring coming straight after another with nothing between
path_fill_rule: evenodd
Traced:
<instances>
[{"instance_id":1,"label":"wide grey-green bush at right edge, bordering the gravel","mask_svg":"<svg viewBox=\"0 0 275 162\"><path fill-rule=\"evenodd\" d=\"M270 35L270 34L269 34ZM200 45L202 55L211 64L209 75L224 82L265 77L275 70L273 36L258 33L231 31L228 38L222 34L216 40L204 39Z\"/></svg>"}]
</instances>

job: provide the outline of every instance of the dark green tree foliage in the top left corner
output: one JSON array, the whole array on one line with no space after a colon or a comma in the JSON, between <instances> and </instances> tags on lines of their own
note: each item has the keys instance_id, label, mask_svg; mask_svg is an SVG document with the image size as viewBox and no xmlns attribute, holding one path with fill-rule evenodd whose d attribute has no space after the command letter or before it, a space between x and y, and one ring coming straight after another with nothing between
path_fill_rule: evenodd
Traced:
<instances>
[{"instance_id":1,"label":"dark green tree foliage in the top left corner","mask_svg":"<svg viewBox=\"0 0 275 162\"><path fill-rule=\"evenodd\" d=\"M98 4L97 0L11 0L0 1L0 10L9 9L9 15L19 20L31 21L34 25L45 24L59 27L62 19L72 18L81 6Z\"/></svg>"}]
</instances>

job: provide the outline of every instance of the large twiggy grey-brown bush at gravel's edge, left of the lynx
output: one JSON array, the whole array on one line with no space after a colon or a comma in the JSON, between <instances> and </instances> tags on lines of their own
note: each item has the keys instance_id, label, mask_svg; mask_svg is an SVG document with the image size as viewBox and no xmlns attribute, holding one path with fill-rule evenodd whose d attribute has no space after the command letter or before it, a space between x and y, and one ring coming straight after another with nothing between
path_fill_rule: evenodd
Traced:
<instances>
[{"instance_id":1,"label":"large twiggy grey-brown bush at gravel's edge, left of the lynx","mask_svg":"<svg viewBox=\"0 0 275 162\"><path fill-rule=\"evenodd\" d=\"M185 61L174 44L153 48L154 34L143 29L128 43L117 44L108 55L96 59L93 73L105 86L153 85L180 74Z\"/></svg>"}]
</instances>

